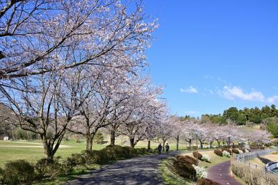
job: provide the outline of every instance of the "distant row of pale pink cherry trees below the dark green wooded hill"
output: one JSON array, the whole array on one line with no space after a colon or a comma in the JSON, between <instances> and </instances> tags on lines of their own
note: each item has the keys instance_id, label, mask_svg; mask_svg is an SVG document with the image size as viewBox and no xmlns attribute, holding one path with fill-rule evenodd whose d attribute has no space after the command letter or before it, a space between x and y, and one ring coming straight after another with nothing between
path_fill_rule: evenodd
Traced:
<instances>
[{"instance_id":1,"label":"distant row of pale pink cherry trees below the dark green wooded hill","mask_svg":"<svg viewBox=\"0 0 278 185\"><path fill-rule=\"evenodd\" d=\"M230 145L231 143L254 143L268 144L272 143L270 138L272 134L268 131L257 129L256 131L244 131L236 124L213 124L211 122L204 122L204 120L197 120L195 118L177 118L172 116L170 118L172 123L170 129L170 135L165 134L169 138L175 138L177 140L177 150L179 149L179 141L184 140L189 144L189 147L195 140L198 140L200 147L203 148L204 143L207 143L212 147L213 142L220 144Z\"/></svg>"}]
</instances>

